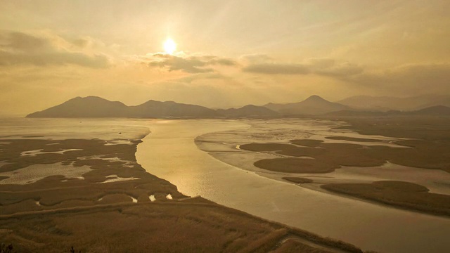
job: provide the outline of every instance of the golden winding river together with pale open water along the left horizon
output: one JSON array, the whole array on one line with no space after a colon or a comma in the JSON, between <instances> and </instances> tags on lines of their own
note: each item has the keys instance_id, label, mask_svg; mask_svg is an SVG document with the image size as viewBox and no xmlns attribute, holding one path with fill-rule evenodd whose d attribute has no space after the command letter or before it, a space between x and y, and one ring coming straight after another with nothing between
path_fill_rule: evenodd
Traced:
<instances>
[{"instance_id":1,"label":"golden winding river together with pale open water along the left horizon","mask_svg":"<svg viewBox=\"0 0 450 253\"><path fill-rule=\"evenodd\" d=\"M181 193L191 196L201 195L221 205L303 228L319 235L345 240L363 249L380 252L450 252L448 218L374 205L269 179L267 175L261 176L257 171L240 169L243 167L240 165L248 164L248 160L236 162L236 166L230 165L231 162L221 162L200 150L194 141L198 136L216 133L207 136L211 143L203 143L201 148L223 151L221 155L226 157L227 152L233 155L236 143L245 143L249 140L277 142L311 136L318 138L326 135L330 131L329 126L336 123L290 120L274 128L274 125L266 122L257 122L263 128L256 132L251 131L252 124L255 125L255 122L3 119L0 121L0 136L1 138L24 138L24 136L53 139L102 138L113 142L117 138L143 136L148 134L150 129L151 134L143 138L143 143L138 145L136 153L138 162L150 174L174 183ZM219 131L226 132L217 134ZM238 134L234 132L233 136L233 131L237 131ZM352 135L358 136L351 132L346 133L346 136ZM379 138L383 139L383 136ZM389 166L385 169L390 170L392 175L400 176L397 169ZM411 172L408 168L403 169ZM362 177L376 174L374 169L367 173ZM355 168L349 168L335 174L337 175L334 176L357 175L357 171ZM433 177L434 174L425 176Z\"/></svg>"}]
</instances>

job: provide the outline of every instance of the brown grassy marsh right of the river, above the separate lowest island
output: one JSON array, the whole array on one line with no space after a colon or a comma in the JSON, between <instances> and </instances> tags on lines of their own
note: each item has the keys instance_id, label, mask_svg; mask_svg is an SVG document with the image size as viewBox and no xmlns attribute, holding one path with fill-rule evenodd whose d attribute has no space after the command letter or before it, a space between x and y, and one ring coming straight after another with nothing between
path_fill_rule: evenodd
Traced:
<instances>
[{"instance_id":1,"label":"brown grassy marsh right of the river, above the separate lowest island","mask_svg":"<svg viewBox=\"0 0 450 253\"><path fill-rule=\"evenodd\" d=\"M322 143L319 140L310 139L290 141L290 143L295 145L288 143L250 143L240 145L240 148L257 152L274 152L292 157L314 157L318 162L298 162L298 165L314 167L317 169L317 173L324 173L323 164L330 164L330 168L339 168L340 166L376 167L385 164L387 161L409 167L441 169L450 172L450 130L445 129L445 127L449 127L450 129L450 119L436 119L437 123L411 122L412 119L407 120L404 118L397 119L397 121L394 119L391 121L384 119L382 120L384 123L380 123L380 120L376 118L349 119L349 122L352 122L355 126L344 126L342 128L354 129L363 134L423 139L394 142L409 148L392 148L383 145L370 145L364 148L363 145L353 143ZM358 127L362 127L363 129L358 129ZM329 136L327 138L347 141L375 141L371 138L350 138L343 136ZM297 145L304 145L304 147ZM273 162L257 162L255 166L274 171L295 171L292 158L285 159L285 162L281 162L279 158ZM271 164L270 166L267 165L269 163ZM272 164L278 164L280 167L274 167ZM288 169L283 169L285 164L288 164ZM297 171L302 170L298 169ZM314 173L311 169L307 169L307 171L309 171L308 173Z\"/></svg>"}]
</instances>

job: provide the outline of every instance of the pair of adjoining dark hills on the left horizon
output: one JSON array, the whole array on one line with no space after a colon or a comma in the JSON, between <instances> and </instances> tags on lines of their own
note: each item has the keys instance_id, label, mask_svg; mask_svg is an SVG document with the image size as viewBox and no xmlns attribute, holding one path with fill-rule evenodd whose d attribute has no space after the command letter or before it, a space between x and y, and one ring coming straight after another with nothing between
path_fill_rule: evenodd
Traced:
<instances>
[{"instance_id":1,"label":"pair of adjoining dark hills on the left horizon","mask_svg":"<svg viewBox=\"0 0 450 253\"><path fill-rule=\"evenodd\" d=\"M136 106L127 106L96 96L72 98L27 117L216 117L216 111L200 105L186 105L172 101L150 100Z\"/></svg>"}]
</instances>

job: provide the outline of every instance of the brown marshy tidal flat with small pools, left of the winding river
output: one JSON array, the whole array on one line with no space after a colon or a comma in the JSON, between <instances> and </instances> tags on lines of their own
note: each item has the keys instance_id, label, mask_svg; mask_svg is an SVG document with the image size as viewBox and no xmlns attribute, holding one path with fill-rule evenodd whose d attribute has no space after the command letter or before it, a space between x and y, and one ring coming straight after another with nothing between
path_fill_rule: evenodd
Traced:
<instances>
[{"instance_id":1,"label":"brown marshy tidal flat with small pools, left of the winding river","mask_svg":"<svg viewBox=\"0 0 450 253\"><path fill-rule=\"evenodd\" d=\"M136 160L147 121L11 121L0 126L0 238L16 252L361 252L180 193Z\"/></svg>"}]
</instances>

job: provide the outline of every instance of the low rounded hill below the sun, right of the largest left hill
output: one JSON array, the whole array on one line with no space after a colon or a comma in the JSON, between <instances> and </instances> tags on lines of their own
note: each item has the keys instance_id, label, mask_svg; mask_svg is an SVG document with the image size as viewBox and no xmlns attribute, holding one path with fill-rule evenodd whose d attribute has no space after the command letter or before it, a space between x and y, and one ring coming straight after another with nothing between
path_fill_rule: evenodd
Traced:
<instances>
[{"instance_id":1,"label":"low rounded hill below the sun, right of the largest left hill","mask_svg":"<svg viewBox=\"0 0 450 253\"><path fill-rule=\"evenodd\" d=\"M129 106L129 117L215 117L217 112L200 105L187 105L174 101L149 100L136 106Z\"/></svg>"}]
</instances>

